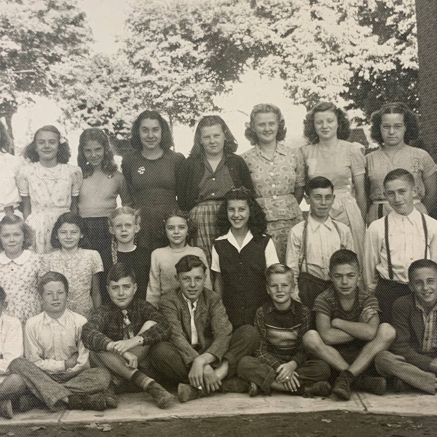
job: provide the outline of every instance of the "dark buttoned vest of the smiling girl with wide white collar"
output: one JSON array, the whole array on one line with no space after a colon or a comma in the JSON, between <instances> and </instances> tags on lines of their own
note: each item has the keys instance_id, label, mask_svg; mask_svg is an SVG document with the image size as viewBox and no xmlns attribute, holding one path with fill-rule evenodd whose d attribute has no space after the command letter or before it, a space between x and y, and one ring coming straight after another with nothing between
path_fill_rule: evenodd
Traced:
<instances>
[{"instance_id":1,"label":"dark buttoned vest of the smiling girl with wide white collar","mask_svg":"<svg viewBox=\"0 0 437 437\"><path fill-rule=\"evenodd\" d=\"M268 301L265 250L270 236L253 237L240 253L227 239L215 240L223 279L222 301L233 329L253 325L255 312Z\"/></svg>"}]
</instances>

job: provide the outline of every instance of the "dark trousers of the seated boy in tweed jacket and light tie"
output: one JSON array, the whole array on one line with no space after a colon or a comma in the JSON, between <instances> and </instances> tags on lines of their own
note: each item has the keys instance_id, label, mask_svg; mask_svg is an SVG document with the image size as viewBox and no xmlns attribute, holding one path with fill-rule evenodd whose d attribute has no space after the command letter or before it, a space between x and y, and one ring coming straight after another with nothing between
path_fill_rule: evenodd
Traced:
<instances>
[{"instance_id":1,"label":"dark trousers of the seated boy in tweed jacket and light tie","mask_svg":"<svg viewBox=\"0 0 437 437\"><path fill-rule=\"evenodd\" d=\"M229 348L222 357L229 363L225 379L236 374L237 364L246 355L253 355L259 345L259 334L251 325L240 326L232 334ZM175 386L179 383L189 384L188 374L191 366L187 366L173 343L163 341L150 351L154 367L159 369L159 377L155 378L164 386Z\"/></svg>"}]
</instances>

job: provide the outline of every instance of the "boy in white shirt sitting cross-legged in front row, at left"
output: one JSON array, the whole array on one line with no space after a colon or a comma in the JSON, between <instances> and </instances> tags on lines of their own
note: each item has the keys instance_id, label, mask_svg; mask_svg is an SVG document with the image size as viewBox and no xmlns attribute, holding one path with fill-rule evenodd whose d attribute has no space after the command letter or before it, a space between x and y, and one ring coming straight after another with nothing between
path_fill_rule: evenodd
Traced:
<instances>
[{"instance_id":1,"label":"boy in white shirt sitting cross-legged in front row, at left","mask_svg":"<svg viewBox=\"0 0 437 437\"><path fill-rule=\"evenodd\" d=\"M16 399L20 411L29 409L35 396L52 411L115 407L115 399L106 392L109 372L90 368L89 350L80 340L87 319L66 309L66 277L50 271L42 276L38 291L43 312L28 319L25 358L9 364L11 375L0 385L1 415L12 418L11 401Z\"/></svg>"}]
</instances>

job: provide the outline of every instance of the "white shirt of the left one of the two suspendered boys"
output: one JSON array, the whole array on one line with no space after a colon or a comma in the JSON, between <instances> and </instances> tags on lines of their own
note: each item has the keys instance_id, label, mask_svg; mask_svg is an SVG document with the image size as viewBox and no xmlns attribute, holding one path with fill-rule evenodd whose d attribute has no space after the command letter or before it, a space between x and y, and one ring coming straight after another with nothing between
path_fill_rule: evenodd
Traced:
<instances>
[{"instance_id":1,"label":"white shirt of the left one of the two suspendered boys","mask_svg":"<svg viewBox=\"0 0 437 437\"><path fill-rule=\"evenodd\" d=\"M354 250L354 240L349 226L336 222L328 216L325 222L318 222L308 216L307 238L306 238L306 263L302 263L302 271L306 271L315 277L327 281L329 279L329 260L331 255L341 249ZM303 232L305 221L298 223L291 228L288 235L286 264L293 271L296 290L299 277L299 257L302 248Z\"/></svg>"}]
</instances>

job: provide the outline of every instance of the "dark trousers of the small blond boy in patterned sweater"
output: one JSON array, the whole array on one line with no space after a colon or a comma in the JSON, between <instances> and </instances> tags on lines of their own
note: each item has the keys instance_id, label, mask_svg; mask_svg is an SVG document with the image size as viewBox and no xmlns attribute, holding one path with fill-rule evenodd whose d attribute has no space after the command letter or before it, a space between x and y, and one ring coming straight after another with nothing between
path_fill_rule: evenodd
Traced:
<instances>
[{"instance_id":1,"label":"dark trousers of the small blond boy in patterned sweater","mask_svg":"<svg viewBox=\"0 0 437 437\"><path fill-rule=\"evenodd\" d=\"M299 382L311 386L317 381L327 381L331 374L329 364L323 360L304 361L297 369ZM238 363L239 378L255 383L265 395L270 395L272 382L276 379L276 370L261 363L255 357L243 357Z\"/></svg>"}]
</instances>

